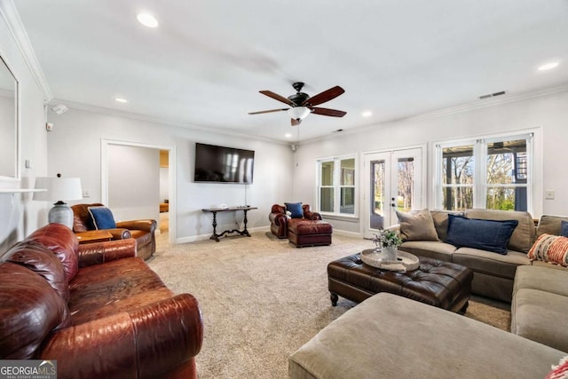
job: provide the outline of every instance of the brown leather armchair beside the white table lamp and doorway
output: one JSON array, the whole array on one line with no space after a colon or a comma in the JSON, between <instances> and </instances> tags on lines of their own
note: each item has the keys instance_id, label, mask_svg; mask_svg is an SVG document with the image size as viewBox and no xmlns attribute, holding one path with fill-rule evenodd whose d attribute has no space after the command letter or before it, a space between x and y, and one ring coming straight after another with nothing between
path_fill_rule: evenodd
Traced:
<instances>
[{"instance_id":1,"label":"brown leather armchair beside the white table lamp and doorway","mask_svg":"<svg viewBox=\"0 0 568 379\"><path fill-rule=\"evenodd\" d=\"M96 230L92 221L89 207L104 207L103 204L76 204L71 206L73 209L73 232L83 233ZM134 238L138 243L138 257L148 259L156 251L155 230L158 223L155 220L132 220L120 221L116 223L115 229L106 229L113 235L113 240L123 240Z\"/></svg>"}]
</instances>

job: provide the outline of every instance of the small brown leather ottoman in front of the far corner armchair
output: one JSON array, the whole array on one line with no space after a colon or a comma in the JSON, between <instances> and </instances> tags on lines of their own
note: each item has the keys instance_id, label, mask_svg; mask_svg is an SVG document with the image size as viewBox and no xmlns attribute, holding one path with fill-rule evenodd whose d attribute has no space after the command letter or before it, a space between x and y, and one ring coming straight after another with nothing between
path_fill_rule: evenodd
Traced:
<instances>
[{"instance_id":1,"label":"small brown leather ottoman in front of the far corner armchair","mask_svg":"<svg viewBox=\"0 0 568 379\"><path fill-rule=\"evenodd\" d=\"M288 220L288 241L296 248L330 245L333 226L322 220L291 218Z\"/></svg>"}]
</instances>

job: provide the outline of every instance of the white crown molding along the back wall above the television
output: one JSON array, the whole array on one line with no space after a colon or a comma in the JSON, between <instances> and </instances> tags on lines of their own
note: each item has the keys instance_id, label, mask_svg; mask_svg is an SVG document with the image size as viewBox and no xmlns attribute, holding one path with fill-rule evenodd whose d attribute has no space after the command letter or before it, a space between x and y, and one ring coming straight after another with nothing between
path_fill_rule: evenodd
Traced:
<instances>
[{"instance_id":1,"label":"white crown molding along the back wall above the television","mask_svg":"<svg viewBox=\"0 0 568 379\"><path fill-rule=\"evenodd\" d=\"M236 138L255 139L257 141L270 142L272 144L277 144L277 145L285 145L285 146L289 145L288 141L280 141L278 139L258 137L258 136L253 135L253 134L240 133L240 132L233 131L233 130L217 129L217 128L212 128L211 126L208 126L208 125L195 125L195 124L190 124L190 123L187 123L187 122L180 122L180 121L175 121L175 120L170 120L170 119L164 119L164 118L161 118L161 117L155 117L155 116L150 116L150 115L146 115L146 114L137 114L137 113L132 113L132 112L125 112L125 111L121 111L121 110L116 110L116 109L112 109L112 108L91 106L91 105L88 105L88 104L77 103L77 102L71 101L71 100L51 99L50 103L51 104L65 104L67 107L72 108L72 109L79 109L79 110L83 110L83 111L87 111L87 112L93 112L93 113L99 113L99 114L110 114L110 115L114 115L114 116L117 116L117 117L130 118L132 120L138 120L138 121L153 122L153 123L157 123L157 124L161 124L161 125L168 125L168 126L183 128L184 130L198 130L198 131L203 131L203 132L207 132L207 133L220 134L220 135L224 135L224 136L232 136L232 137L236 137Z\"/></svg>"}]
</instances>

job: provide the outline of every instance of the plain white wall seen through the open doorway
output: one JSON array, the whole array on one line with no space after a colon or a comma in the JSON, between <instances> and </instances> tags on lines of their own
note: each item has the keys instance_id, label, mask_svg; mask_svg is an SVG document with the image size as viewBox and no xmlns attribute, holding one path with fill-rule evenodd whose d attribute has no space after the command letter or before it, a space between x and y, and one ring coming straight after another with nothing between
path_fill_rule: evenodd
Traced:
<instances>
[{"instance_id":1,"label":"plain white wall seen through the open doorway","mask_svg":"<svg viewBox=\"0 0 568 379\"><path fill-rule=\"evenodd\" d=\"M108 146L108 207L114 220L160 217L160 150ZM116 163L116 164L115 164Z\"/></svg>"}]
</instances>

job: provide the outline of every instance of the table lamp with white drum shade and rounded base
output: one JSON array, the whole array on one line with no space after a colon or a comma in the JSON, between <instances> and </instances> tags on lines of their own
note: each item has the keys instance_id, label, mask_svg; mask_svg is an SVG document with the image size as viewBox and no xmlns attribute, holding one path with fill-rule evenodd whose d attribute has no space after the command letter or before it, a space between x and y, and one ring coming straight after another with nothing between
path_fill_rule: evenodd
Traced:
<instances>
[{"instance_id":1,"label":"table lamp with white drum shade and rounded base","mask_svg":"<svg viewBox=\"0 0 568 379\"><path fill-rule=\"evenodd\" d=\"M48 214L50 223L59 223L73 229L73 210L65 201L83 199L80 178L36 178L36 188L45 188L47 191L34 193L36 201L56 201Z\"/></svg>"}]
</instances>

